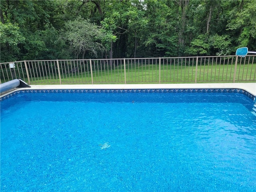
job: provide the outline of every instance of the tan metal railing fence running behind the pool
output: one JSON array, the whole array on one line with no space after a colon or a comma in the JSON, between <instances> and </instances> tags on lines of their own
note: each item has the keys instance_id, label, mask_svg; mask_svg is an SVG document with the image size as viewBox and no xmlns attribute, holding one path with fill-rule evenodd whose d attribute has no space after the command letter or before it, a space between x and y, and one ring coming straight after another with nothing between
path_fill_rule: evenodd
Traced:
<instances>
[{"instance_id":1,"label":"tan metal railing fence running behind the pool","mask_svg":"<svg viewBox=\"0 0 256 192\"><path fill-rule=\"evenodd\" d=\"M30 60L0 63L0 83L28 84L255 82L253 55L84 60Z\"/></svg>"}]
</instances>

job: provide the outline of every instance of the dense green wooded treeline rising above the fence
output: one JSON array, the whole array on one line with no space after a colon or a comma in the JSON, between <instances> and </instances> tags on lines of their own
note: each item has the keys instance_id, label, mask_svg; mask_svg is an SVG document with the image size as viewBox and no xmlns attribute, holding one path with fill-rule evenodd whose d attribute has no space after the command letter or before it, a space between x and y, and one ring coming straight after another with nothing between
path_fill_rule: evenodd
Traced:
<instances>
[{"instance_id":1,"label":"dense green wooded treeline rising above the fence","mask_svg":"<svg viewBox=\"0 0 256 192\"><path fill-rule=\"evenodd\" d=\"M0 62L256 51L255 0L1 0Z\"/></svg>"}]
</instances>

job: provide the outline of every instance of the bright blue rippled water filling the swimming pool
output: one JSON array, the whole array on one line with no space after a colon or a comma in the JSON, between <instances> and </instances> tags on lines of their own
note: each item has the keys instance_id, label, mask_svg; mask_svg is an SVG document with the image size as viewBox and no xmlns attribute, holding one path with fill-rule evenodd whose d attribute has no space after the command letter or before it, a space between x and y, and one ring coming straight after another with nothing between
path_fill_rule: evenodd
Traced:
<instances>
[{"instance_id":1,"label":"bright blue rippled water filling the swimming pool","mask_svg":"<svg viewBox=\"0 0 256 192\"><path fill-rule=\"evenodd\" d=\"M240 93L20 93L1 101L1 192L256 189Z\"/></svg>"}]
</instances>

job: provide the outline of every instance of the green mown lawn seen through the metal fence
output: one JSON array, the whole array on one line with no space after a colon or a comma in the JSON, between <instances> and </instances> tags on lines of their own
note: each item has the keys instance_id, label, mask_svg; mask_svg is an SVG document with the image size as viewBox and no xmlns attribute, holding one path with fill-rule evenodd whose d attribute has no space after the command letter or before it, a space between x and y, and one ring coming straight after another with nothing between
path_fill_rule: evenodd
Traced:
<instances>
[{"instance_id":1,"label":"green mown lawn seen through the metal fence","mask_svg":"<svg viewBox=\"0 0 256 192\"><path fill-rule=\"evenodd\" d=\"M113 66L112 71L97 70L94 66L94 84L124 84L124 66ZM149 83L211 83L233 82L234 65L198 64L196 66L185 65L161 65L159 64L126 64L127 84ZM159 77L160 71L160 77ZM256 64L238 64L235 82L256 82ZM27 78L24 78L28 82ZM3 81L2 81L3 82ZM61 75L62 84L92 84L90 71L64 73ZM60 84L58 74L31 78L30 84Z\"/></svg>"}]
</instances>

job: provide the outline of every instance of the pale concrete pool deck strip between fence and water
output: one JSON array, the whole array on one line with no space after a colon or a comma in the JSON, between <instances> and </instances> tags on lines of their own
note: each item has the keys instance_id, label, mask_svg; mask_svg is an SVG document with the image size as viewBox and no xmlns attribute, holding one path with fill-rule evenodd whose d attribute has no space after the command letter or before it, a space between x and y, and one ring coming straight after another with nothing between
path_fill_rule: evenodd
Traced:
<instances>
[{"instance_id":1,"label":"pale concrete pool deck strip between fence and water","mask_svg":"<svg viewBox=\"0 0 256 192\"><path fill-rule=\"evenodd\" d=\"M1 94L1 97L17 90L51 89L242 89L256 96L256 83L198 83L198 84L70 84L31 85L31 88L17 88Z\"/></svg>"}]
</instances>

